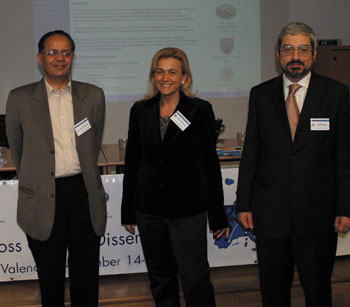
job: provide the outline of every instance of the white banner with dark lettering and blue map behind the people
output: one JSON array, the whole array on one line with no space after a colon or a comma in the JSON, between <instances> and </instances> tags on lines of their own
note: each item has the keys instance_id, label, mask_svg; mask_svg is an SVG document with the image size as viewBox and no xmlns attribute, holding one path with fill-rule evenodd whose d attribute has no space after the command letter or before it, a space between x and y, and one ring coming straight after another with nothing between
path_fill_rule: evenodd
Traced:
<instances>
[{"instance_id":1,"label":"white banner with dark lettering and blue map behind the people","mask_svg":"<svg viewBox=\"0 0 350 307\"><path fill-rule=\"evenodd\" d=\"M238 168L224 168L225 210L229 239L213 239L208 229L211 267L256 263L255 238L237 223L235 214ZM101 238L100 275L146 272L140 236L120 224L123 175L102 176L107 197L107 228ZM16 223L18 181L0 181L0 281L36 279L36 266L27 239ZM38 221L40 222L40 221ZM339 235L338 255L350 254L350 235Z\"/></svg>"}]
</instances>

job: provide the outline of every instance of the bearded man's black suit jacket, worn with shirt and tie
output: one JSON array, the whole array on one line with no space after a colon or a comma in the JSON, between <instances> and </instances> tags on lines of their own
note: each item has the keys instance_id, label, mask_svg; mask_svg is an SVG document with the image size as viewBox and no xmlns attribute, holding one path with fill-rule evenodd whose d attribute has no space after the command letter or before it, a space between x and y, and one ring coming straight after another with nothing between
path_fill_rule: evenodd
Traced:
<instances>
[{"instance_id":1,"label":"bearded man's black suit jacket, worn with shirt and tie","mask_svg":"<svg viewBox=\"0 0 350 307\"><path fill-rule=\"evenodd\" d=\"M329 118L329 131L311 131L311 118ZM246 142L237 188L238 212L253 212L254 227L271 237L292 227L303 237L334 231L335 216L350 216L348 88L312 73L292 142L283 78L251 90Z\"/></svg>"}]
</instances>

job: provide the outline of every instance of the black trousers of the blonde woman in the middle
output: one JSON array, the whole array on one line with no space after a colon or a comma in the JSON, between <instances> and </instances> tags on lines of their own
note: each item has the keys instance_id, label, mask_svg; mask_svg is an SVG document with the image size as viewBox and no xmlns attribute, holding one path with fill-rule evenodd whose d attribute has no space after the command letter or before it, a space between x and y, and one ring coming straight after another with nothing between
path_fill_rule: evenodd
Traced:
<instances>
[{"instance_id":1,"label":"black trousers of the blonde woman in the middle","mask_svg":"<svg viewBox=\"0 0 350 307\"><path fill-rule=\"evenodd\" d=\"M136 218L156 306L180 306L178 274L187 307L215 306L206 213L163 218L137 212Z\"/></svg>"}]
</instances>

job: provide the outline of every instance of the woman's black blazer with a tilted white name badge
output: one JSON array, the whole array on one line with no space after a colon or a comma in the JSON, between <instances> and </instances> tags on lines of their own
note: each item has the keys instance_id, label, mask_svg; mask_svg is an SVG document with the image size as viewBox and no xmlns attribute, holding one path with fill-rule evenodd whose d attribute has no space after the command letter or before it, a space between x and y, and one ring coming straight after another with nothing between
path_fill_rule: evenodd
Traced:
<instances>
[{"instance_id":1,"label":"woman's black blazer with a tilted white name badge","mask_svg":"<svg viewBox=\"0 0 350 307\"><path fill-rule=\"evenodd\" d=\"M130 111L122 224L136 223L135 210L164 217L207 211L212 230L227 227L210 103L182 94L175 112L191 124L181 131L170 121L162 141L159 99L136 102Z\"/></svg>"}]
</instances>

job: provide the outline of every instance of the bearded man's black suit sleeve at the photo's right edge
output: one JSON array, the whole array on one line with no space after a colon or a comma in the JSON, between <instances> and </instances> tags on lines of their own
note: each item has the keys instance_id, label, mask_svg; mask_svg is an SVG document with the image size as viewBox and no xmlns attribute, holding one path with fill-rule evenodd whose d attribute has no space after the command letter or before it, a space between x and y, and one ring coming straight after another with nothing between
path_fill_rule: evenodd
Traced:
<instances>
[{"instance_id":1,"label":"bearded man's black suit sleeve at the photo's right edge","mask_svg":"<svg viewBox=\"0 0 350 307\"><path fill-rule=\"evenodd\" d=\"M344 86L336 127L337 216L350 217L350 107L349 91Z\"/></svg>"}]
</instances>

